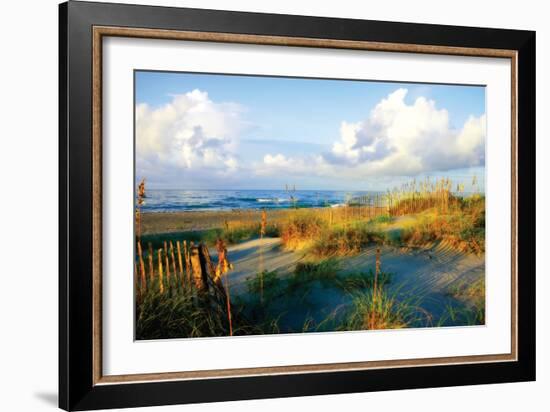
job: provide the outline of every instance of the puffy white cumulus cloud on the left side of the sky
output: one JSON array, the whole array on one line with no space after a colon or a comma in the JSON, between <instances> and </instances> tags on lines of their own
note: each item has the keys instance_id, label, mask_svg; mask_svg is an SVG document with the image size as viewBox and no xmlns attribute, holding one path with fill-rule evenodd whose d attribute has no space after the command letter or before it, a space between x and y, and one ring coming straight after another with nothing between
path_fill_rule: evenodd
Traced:
<instances>
[{"instance_id":1,"label":"puffy white cumulus cloud on the left side of the sky","mask_svg":"<svg viewBox=\"0 0 550 412\"><path fill-rule=\"evenodd\" d=\"M242 108L215 103L200 90L175 95L158 108L136 107L136 157L143 173L201 169L231 172L243 129Z\"/></svg>"}]
</instances>

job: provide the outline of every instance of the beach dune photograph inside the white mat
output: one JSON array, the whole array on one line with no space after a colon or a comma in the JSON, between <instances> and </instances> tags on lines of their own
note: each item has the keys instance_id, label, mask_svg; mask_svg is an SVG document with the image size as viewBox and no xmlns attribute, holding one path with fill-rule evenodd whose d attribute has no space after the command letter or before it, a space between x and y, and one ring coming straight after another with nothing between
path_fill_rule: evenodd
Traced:
<instances>
[{"instance_id":1,"label":"beach dune photograph inside the white mat","mask_svg":"<svg viewBox=\"0 0 550 412\"><path fill-rule=\"evenodd\" d=\"M135 339L485 325L483 85L134 71Z\"/></svg>"}]
</instances>

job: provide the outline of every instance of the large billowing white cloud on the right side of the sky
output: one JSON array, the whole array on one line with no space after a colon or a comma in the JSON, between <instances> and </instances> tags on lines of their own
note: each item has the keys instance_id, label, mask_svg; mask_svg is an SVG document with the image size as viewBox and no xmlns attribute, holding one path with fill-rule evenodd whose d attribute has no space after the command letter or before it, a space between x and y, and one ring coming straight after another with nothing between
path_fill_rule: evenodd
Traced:
<instances>
[{"instance_id":1,"label":"large billowing white cloud on the right side of the sky","mask_svg":"<svg viewBox=\"0 0 550 412\"><path fill-rule=\"evenodd\" d=\"M461 129L433 100L407 104L406 89L380 101L366 120L343 122L326 162L362 175L412 175L485 163L485 115L471 116ZM348 171L349 172L349 171ZM344 172L346 173L346 172Z\"/></svg>"}]
</instances>

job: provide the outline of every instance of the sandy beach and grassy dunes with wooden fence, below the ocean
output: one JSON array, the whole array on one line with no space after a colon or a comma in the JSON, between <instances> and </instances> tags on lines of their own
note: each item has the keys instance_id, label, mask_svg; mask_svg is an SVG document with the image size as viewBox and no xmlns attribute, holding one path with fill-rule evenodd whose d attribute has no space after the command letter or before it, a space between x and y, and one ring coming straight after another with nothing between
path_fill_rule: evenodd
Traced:
<instances>
[{"instance_id":1,"label":"sandy beach and grassy dunes with wooden fence, below the ocean","mask_svg":"<svg viewBox=\"0 0 550 412\"><path fill-rule=\"evenodd\" d=\"M342 207L137 216L137 339L485 323L485 197L449 179Z\"/></svg>"}]
</instances>

